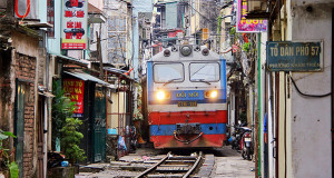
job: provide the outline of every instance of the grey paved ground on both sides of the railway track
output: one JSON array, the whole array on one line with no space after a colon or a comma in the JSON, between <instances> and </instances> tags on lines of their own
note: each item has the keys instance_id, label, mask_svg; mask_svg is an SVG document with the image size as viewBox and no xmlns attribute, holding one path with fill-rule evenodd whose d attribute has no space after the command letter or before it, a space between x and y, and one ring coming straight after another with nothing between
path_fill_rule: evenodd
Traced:
<instances>
[{"instance_id":1,"label":"grey paved ground on both sides of the railway track","mask_svg":"<svg viewBox=\"0 0 334 178\"><path fill-rule=\"evenodd\" d=\"M214 150L203 150L206 159L214 158L214 165L206 165L205 161L199 170L199 177L208 178L254 178L255 164L244 160L239 152L233 150L230 146ZM183 152L187 152L186 150ZM122 157L119 161L110 164L92 164L80 168L76 178L112 178L112 177L136 177L139 166L150 165L156 158L161 158L166 150L154 150L139 148L136 154ZM212 158L210 158L212 157ZM94 171L94 172L89 172ZM98 171L98 172L96 172ZM198 175L194 175L195 177Z\"/></svg>"}]
</instances>

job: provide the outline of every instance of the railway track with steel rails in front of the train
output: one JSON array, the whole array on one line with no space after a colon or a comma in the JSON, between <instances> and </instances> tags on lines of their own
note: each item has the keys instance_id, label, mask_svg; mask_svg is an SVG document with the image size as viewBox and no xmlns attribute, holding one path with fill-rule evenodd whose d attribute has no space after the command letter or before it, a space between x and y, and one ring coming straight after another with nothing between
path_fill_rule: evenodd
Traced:
<instances>
[{"instance_id":1,"label":"railway track with steel rails in front of the train","mask_svg":"<svg viewBox=\"0 0 334 178\"><path fill-rule=\"evenodd\" d=\"M174 156L168 152L166 157L136 178L187 178L198 168L202 159L202 151L190 156Z\"/></svg>"}]
</instances>

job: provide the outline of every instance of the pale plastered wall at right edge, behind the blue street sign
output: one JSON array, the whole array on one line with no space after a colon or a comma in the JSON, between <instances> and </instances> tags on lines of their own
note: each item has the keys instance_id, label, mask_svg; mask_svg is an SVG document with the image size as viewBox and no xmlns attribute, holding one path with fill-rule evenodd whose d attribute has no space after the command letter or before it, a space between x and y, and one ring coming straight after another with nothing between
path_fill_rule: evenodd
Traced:
<instances>
[{"instance_id":1,"label":"pale plastered wall at right edge, behind the blue street sign","mask_svg":"<svg viewBox=\"0 0 334 178\"><path fill-rule=\"evenodd\" d=\"M306 3L304 4L303 1ZM310 3L313 3L311 4L312 12L305 10ZM291 8L292 40L324 40L324 70L321 72L293 72L293 78L304 93L328 93L331 92L332 9L334 2L333 0L292 0ZM293 86L291 86L291 90L293 177L332 177L331 97L305 98L301 97Z\"/></svg>"}]
</instances>

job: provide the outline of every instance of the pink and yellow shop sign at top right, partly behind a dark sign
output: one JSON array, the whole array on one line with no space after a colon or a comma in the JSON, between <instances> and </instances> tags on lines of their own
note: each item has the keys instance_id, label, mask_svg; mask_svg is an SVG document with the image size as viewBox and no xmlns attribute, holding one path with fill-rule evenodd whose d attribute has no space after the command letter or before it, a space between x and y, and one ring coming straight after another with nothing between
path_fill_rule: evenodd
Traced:
<instances>
[{"instance_id":1,"label":"pink and yellow shop sign at top right, partly behind a dark sign","mask_svg":"<svg viewBox=\"0 0 334 178\"><path fill-rule=\"evenodd\" d=\"M246 19L248 1L249 0L237 0L236 32L266 32L267 20Z\"/></svg>"}]
</instances>

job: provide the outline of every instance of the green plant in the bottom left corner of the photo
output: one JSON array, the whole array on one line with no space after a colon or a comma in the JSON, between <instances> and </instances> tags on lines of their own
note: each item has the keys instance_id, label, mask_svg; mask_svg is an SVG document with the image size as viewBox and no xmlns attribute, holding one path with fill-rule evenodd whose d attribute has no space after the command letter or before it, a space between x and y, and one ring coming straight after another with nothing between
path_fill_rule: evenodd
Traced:
<instances>
[{"instance_id":1,"label":"green plant in the bottom left corner of the photo","mask_svg":"<svg viewBox=\"0 0 334 178\"><path fill-rule=\"evenodd\" d=\"M18 178L19 177L19 167L14 161L10 161L9 157L11 154L9 154L9 149L4 148L3 141L7 140L9 137L17 138L12 132L10 131L3 131L0 129L0 162L4 164L10 172L10 178ZM0 165L1 165L0 164Z\"/></svg>"}]
</instances>

